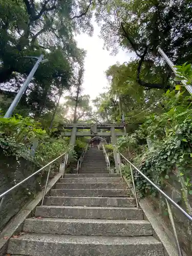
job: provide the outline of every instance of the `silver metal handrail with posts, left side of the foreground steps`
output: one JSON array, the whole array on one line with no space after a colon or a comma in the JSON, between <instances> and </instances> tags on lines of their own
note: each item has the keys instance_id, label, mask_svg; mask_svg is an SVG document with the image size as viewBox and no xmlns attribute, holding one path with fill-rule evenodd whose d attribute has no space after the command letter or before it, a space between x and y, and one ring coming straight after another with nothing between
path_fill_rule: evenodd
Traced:
<instances>
[{"instance_id":1,"label":"silver metal handrail with posts, left side of the foreground steps","mask_svg":"<svg viewBox=\"0 0 192 256\"><path fill-rule=\"evenodd\" d=\"M45 194L46 194L46 190L47 190L47 185L48 185L48 181L49 181L49 174L50 174L50 170L51 170L51 165L52 163L54 163L56 160L60 159L61 158L61 162L62 162L62 157L65 156L65 160L64 160L64 166L62 168L62 177L63 177L63 174L65 172L65 167L66 167L66 164L67 164L67 160L68 160L68 153L65 152L63 153L62 155L60 155L59 157L55 158L54 160L52 160L51 162L49 162L48 164L46 164L45 166L41 167L40 169L38 169L34 174L28 176L26 179L20 181L19 183L17 183L16 185L14 185L13 187L9 188L7 191L5 191L4 193L2 193L0 195L0 199L1 202L0 202L0 209L3 205L3 201L5 199L5 196L7 196L8 194L10 194L16 187L22 185L23 183L25 183L27 180L29 180L31 177L35 176L36 174L39 174L41 172L41 170L45 169L46 167L49 166L49 172L48 172L48 175L47 175L47 180L46 180L46 185L45 185L45 188L44 188L44 195L42 197L42 204L44 203L44 198L45 198Z\"/></svg>"}]
</instances>

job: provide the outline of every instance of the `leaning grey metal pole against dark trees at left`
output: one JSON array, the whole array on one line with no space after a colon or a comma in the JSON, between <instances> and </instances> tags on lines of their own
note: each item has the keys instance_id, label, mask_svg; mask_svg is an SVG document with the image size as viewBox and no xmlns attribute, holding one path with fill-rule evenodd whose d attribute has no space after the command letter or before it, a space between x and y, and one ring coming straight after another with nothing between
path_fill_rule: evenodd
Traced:
<instances>
[{"instance_id":1,"label":"leaning grey metal pole against dark trees at left","mask_svg":"<svg viewBox=\"0 0 192 256\"><path fill-rule=\"evenodd\" d=\"M25 90L27 89L33 75L35 74L35 71L37 70L39 63L41 62L41 60L44 58L44 55L40 55L39 58L37 59L33 69L31 70L30 74L28 75L27 79L25 80L23 86L20 88L20 90L18 91L16 97L14 98L13 102L11 103L8 111L6 112L4 118L9 118L11 117L14 109L16 108L16 105L18 104L20 98L22 97L22 95L24 94Z\"/></svg>"}]
</instances>

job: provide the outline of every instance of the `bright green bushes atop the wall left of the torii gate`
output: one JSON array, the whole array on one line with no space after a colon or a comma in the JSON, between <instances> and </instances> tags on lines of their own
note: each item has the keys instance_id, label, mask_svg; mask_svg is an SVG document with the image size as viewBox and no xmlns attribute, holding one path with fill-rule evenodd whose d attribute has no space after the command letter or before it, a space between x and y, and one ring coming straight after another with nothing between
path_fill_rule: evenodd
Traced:
<instances>
[{"instance_id":1,"label":"bright green bushes atop the wall left of the torii gate","mask_svg":"<svg viewBox=\"0 0 192 256\"><path fill-rule=\"evenodd\" d=\"M0 147L5 154L23 157L43 166L68 151L68 141L51 138L41 124L29 117L15 116L0 119ZM38 139L35 157L30 156L34 139Z\"/></svg>"}]
</instances>

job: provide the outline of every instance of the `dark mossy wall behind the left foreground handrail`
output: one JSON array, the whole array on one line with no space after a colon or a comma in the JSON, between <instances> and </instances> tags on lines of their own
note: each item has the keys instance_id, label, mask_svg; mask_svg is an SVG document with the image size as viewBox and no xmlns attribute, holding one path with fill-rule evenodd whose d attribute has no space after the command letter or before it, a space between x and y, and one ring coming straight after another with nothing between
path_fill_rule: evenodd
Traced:
<instances>
[{"instance_id":1,"label":"dark mossy wall behind the left foreground handrail","mask_svg":"<svg viewBox=\"0 0 192 256\"><path fill-rule=\"evenodd\" d=\"M13 156L5 156L0 149L0 194L11 188L18 182L27 178L38 169L37 166L25 159L16 160ZM26 183L16 188L13 193L6 196L3 207L0 209L0 231L19 209L37 191L41 190L40 184L45 183L46 175L37 175Z\"/></svg>"}]
</instances>

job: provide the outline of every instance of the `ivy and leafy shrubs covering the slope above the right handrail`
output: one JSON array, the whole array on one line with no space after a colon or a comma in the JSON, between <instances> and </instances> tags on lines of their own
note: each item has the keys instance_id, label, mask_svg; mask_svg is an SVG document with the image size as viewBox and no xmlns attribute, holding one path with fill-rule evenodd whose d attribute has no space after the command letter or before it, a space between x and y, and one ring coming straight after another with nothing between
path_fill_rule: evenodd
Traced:
<instances>
[{"instance_id":1,"label":"ivy and leafy shrubs covering the slope above the right handrail","mask_svg":"<svg viewBox=\"0 0 192 256\"><path fill-rule=\"evenodd\" d=\"M191 81L191 66L178 68L176 80ZM191 212L188 198L192 195L192 97L181 87L180 91L166 91L161 101L162 113L145 116L145 121L134 133L118 140L118 148L138 166L154 183L163 187L173 179L180 182L183 200ZM156 195L141 176L136 184L141 196Z\"/></svg>"}]
</instances>

